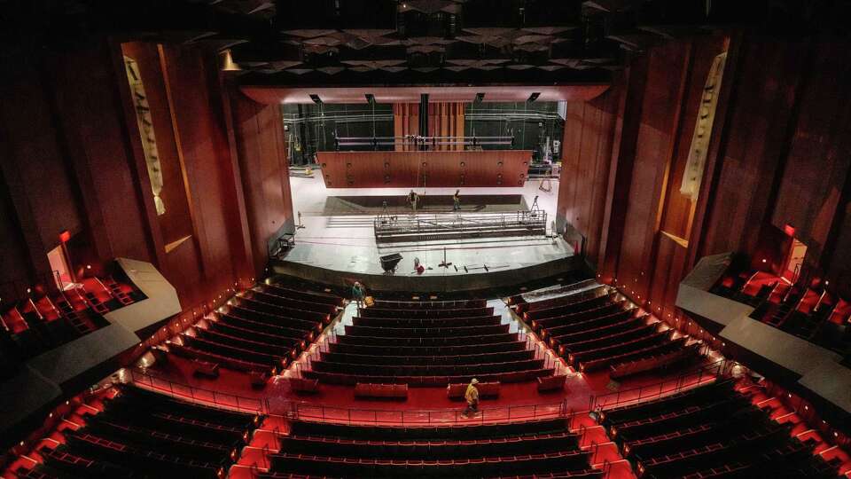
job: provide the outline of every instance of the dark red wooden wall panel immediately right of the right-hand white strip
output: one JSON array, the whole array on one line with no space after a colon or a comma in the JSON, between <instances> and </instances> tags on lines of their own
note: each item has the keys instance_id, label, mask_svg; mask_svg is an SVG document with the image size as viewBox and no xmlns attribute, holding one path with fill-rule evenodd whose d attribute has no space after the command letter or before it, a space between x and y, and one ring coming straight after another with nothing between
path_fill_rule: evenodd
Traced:
<instances>
[{"instance_id":1,"label":"dark red wooden wall panel immediately right of the right-hand white strip","mask_svg":"<svg viewBox=\"0 0 851 479\"><path fill-rule=\"evenodd\" d=\"M742 47L742 70L731 106L714 205L707 215L699 255L727 251L753 254L760 224L771 213L782 168L792 108L809 48L753 38Z\"/></svg>"}]
</instances>

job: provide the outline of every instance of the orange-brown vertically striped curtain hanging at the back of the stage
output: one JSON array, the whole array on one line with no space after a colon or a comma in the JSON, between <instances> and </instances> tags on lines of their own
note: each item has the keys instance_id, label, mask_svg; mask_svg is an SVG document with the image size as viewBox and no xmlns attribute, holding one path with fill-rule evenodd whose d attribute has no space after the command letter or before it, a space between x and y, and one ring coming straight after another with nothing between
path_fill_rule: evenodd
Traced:
<instances>
[{"instance_id":1,"label":"orange-brown vertically striped curtain hanging at the back of the stage","mask_svg":"<svg viewBox=\"0 0 851 479\"><path fill-rule=\"evenodd\" d=\"M428 104L429 137L464 137L464 103L440 102ZM394 135L419 134L419 104L396 103L393 106ZM396 142L396 150L413 150L413 145ZM433 150L464 150L464 145L436 145Z\"/></svg>"}]
</instances>

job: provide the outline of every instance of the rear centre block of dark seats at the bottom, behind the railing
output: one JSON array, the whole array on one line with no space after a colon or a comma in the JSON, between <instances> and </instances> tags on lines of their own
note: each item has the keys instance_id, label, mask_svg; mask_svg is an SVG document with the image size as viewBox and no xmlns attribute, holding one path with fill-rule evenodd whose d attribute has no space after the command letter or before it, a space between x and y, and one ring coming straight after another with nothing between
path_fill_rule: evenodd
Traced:
<instances>
[{"instance_id":1,"label":"rear centre block of dark seats at the bottom, behind the railing","mask_svg":"<svg viewBox=\"0 0 851 479\"><path fill-rule=\"evenodd\" d=\"M598 477L589 455L564 419L413 428L295 420L260 476Z\"/></svg>"}]
</instances>

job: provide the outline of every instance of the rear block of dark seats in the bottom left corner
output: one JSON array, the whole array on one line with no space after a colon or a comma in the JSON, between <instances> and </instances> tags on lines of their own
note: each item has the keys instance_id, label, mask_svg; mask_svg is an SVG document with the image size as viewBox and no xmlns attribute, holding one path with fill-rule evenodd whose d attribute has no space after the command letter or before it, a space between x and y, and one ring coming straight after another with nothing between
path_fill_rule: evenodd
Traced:
<instances>
[{"instance_id":1,"label":"rear block of dark seats in the bottom left corner","mask_svg":"<svg viewBox=\"0 0 851 479\"><path fill-rule=\"evenodd\" d=\"M213 478L238 458L261 417L121 386L103 412L86 408L85 424L44 446L27 476Z\"/></svg>"}]
</instances>

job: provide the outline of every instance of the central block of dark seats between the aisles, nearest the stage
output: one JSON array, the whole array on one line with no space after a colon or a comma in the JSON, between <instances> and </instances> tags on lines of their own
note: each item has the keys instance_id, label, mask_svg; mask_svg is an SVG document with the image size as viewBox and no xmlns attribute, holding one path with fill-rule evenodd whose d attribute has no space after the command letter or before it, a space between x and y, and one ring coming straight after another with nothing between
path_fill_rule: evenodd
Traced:
<instances>
[{"instance_id":1,"label":"central block of dark seats between the aisles, nearest the stage","mask_svg":"<svg viewBox=\"0 0 851 479\"><path fill-rule=\"evenodd\" d=\"M484 300L377 301L358 309L305 377L338 384L533 381L551 370Z\"/></svg>"}]
</instances>

